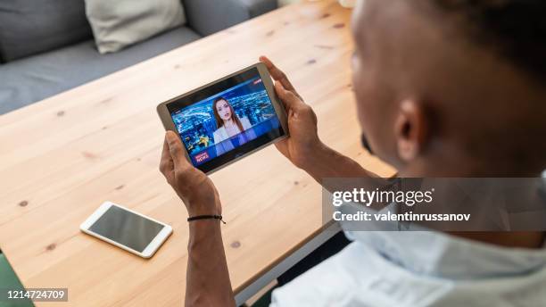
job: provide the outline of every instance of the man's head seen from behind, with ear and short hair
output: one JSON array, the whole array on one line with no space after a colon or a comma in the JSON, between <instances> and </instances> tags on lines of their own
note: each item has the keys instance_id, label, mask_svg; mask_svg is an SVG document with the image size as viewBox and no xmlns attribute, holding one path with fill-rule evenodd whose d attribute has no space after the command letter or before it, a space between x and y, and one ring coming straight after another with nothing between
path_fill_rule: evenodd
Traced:
<instances>
[{"instance_id":1,"label":"man's head seen from behind, with ear and short hair","mask_svg":"<svg viewBox=\"0 0 546 307\"><path fill-rule=\"evenodd\" d=\"M543 0L362 0L353 83L369 145L404 176L546 168Z\"/></svg>"}]
</instances>

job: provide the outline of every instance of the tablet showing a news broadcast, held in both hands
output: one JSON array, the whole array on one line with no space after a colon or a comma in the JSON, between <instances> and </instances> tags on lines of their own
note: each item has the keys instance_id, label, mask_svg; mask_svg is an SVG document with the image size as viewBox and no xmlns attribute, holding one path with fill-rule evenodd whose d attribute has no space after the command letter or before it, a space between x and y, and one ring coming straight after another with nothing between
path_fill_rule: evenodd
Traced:
<instances>
[{"instance_id":1,"label":"tablet showing a news broadcast, held in both hands","mask_svg":"<svg viewBox=\"0 0 546 307\"><path fill-rule=\"evenodd\" d=\"M269 71L257 63L158 105L186 158L209 174L288 136L285 108Z\"/></svg>"}]
</instances>

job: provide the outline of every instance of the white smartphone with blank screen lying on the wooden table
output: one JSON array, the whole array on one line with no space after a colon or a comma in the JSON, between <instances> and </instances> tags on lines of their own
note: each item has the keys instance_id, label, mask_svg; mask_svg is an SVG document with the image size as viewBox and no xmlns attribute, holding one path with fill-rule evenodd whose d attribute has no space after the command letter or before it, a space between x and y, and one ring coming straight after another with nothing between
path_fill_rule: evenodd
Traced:
<instances>
[{"instance_id":1,"label":"white smartphone with blank screen lying on the wooden table","mask_svg":"<svg viewBox=\"0 0 546 307\"><path fill-rule=\"evenodd\" d=\"M111 202L103 203L79 228L143 258L152 257L172 233L169 225Z\"/></svg>"}]
</instances>

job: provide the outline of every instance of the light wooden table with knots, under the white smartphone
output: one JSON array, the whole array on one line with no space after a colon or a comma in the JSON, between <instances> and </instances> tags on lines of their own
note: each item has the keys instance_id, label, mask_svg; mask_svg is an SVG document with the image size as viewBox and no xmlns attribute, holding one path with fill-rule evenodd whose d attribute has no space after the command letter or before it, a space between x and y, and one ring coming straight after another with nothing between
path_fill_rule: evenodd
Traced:
<instances>
[{"instance_id":1,"label":"light wooden table with knots, under the white smartphone","mask_svg":"<svg viewBox=\"0 0 546 307\"><path fill-rule=\"evenodd\" d=\"M350 14L335 1L290 5L0 116L0 248L23 285L68 287L61 306L179 306L187 215L158 170L164 132L155 106L261 54L313 106L325 143L392 175L360 146ZM211 178L237 293L268 272L274 278L271 270L320 233L320 187L274 146ZM81 233L106 200L169 223L173 235L144 260Z\"/></svg>"}]
</instances>

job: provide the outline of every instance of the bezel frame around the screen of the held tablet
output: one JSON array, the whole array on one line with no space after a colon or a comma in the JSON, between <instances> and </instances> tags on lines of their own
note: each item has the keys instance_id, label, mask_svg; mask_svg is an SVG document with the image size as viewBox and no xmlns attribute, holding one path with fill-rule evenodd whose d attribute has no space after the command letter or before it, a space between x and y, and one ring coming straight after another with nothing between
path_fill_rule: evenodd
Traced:
<instances>
[{"instance_id":1,"label":"bezel frame around the screen of the held tablet","mask_svg":"<svg viewBox=\"0 0 546 307\"><path fill-rule=\"evenodd\" d=\"M177 134L178 138L179 138L180 135L178 134L178 129L175 127L174 121L172 120L172 117L170 116L169 104L176 104L180 100L184 99L185 97L187 97L189 95L194 95L195 93L203 91L203 90L207 89L208 87L212 87L212 86L218 84L219 82L222 82L224 80L236 77L237 75L241 75L246 71L251 71L254 68L256 68L258 70L258 73L260 74L263 85L266 88L266 91L268 93L269 100L271 101L271 104L273 104L273 108L275 109L275 112L277 113L277 118L278 118L278 120L280 122L281 128L283 129L284 135L280 136L280 137L277 137L277 138L274 138L274 139L270 140L266 144L259 145L258 147L253 148L252 150L250 150L250 151L248 151L248 152L246 152L244 154L240 154L240 155L236 156L236 158L234 158L234 159L232 159L232 160L230 160L228 162L225 162L224 164L221 164L221 165L219 165L218 167L216 167L214 169L204 171L206 174L211 174L211 173L213 173L213 172L215 172L217 170L221 170L224 167L226 167L227 165L229 165L229 164L231 164L233 162L236 162L236 161L244 158L245 156L253 154L253 153L261 150L262 148L264 148L264 147L266 147L268 145L274 144L274 143L276 143L276 142L278 142L278 141L280 141L280 140L282 140L282 139L289 136L288 121L287 121L287 117L286 117L285 107L277 98L277 94L275 93L275 87L273 85L273 81L271 79L271 76L269 75L268 68L262 62L253 64L253 65L251 65L249 67L244 68L241 71L236 71L236 72L234 72L234 73L232 73L232 74L230 74L230 75L228 75L228 76L226 76L226 77L224 77L222 79L218 79L218 80L213 81L213 82L211 82L209 84L206 84L203 87L198 87L198 88L195 88L194 90L192 90L190 92L187 92L186 94L178 95L177 97L174 97L174 98L172 98L172 99L170 99L170 100L168 100L168 101L166 101L166 102L164 102L162 104L159 104L157 106L157 112L158 112L158 114L160 116L163 127L166 130L171 130L171 131L175 132ZM196 103L196 102L194 102L194 103ZM191 104L187 104L187 105L191 105ZM192 163L192 160L191 160L191 158L189 156L189 153L187 152L186 145L183 145L183 148L184 148L184 154L186 156L186 160L188 162ZM215 158L215 159L217 159L217 158ZM194 164L192 163L192 165L194 165ZM199 167L196 167L196 168L199 169Z\"/></svg>"}]
</instances>

